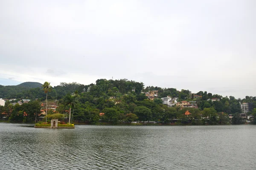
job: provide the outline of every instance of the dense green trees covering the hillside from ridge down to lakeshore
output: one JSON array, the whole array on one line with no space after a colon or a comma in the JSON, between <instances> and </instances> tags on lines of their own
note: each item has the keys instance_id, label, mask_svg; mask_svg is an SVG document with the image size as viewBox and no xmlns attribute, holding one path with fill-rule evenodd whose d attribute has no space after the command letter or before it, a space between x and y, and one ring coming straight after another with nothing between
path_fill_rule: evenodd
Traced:
<instances>
[{"instance_id":1,"label":"dense green trees covering the hillside from ridge down to lakeshore","mask_svg":"<svg viewBox=\"0 0 256 170\"><path fill-rule=\"evenodd\" d=\"M149 100L145 94L148 91L158 91L158 98ZM76 93L75 93L76 92ZM194 98L195 95L202 97ZM162 104L161 97L178 97L179 101L195 101L198 108L167 107ZM0 107L0 119L7 117L10 122L32 122L40 115L41 102L45 102L46 94L43 89L20 86L0 86L0 97L31 99L32 102L13 106L9 102ZM212 102L212 98L220 101ZM35 100L37 99L37 100ZM60 83L48 92L48 101L58 103L57 113L69 117L72 122L96 124L99 122L117 124L119 122L156 121L176 124L228 124L228 114L233 114L232 123L240 122L240 103L251 102L256 108L256 97L246 96L235 99L233 96L222 97L218 94L199 91L192 94L189 90L177 91L175 88L145 87L142 82L127 79L106 80L98 79L96 84L81 85L78 83ZM188 111L189 114L185 115ZM48 111L48 114L53 114ZM100 114L100 113L104 113ZM254 109L251 114L256 114ZM256 115L255 115L256 116Z\"/></svg>"}]
</instances>

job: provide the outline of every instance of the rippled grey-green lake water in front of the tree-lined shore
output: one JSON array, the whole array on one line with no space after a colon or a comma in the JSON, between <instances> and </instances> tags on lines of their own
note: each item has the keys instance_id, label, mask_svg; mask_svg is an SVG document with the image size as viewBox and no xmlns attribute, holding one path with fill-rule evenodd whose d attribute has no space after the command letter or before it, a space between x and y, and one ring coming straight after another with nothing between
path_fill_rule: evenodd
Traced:
<instances>
[{"instance_id":1,"label":"rippled grey-green lake water in front of the tree-lined shore","mask_svg":"<svg viewBox=\"0 0 256 170\"><path fill-rule=\"evenodd\" d=\"M0 170L255 170L256 126L0 123Z\"/></svg>"}]
</instances>

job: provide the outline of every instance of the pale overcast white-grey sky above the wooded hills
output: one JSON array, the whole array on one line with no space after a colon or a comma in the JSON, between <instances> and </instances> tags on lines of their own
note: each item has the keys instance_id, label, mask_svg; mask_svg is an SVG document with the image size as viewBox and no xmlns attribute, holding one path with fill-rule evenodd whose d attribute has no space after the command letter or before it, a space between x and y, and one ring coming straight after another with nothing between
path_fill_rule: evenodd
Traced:
<instances>
[{"instance_id":1,"label":"pale overcast white-grey sky above the wooded hills","mask_svg":"<svg viewBox=\"0 0 256 170\"><path fill-rule=\"evenodd\" d=\"M256 96L256 0L1 0L0 84L129 79Z\"/></svg>"}]
</instances>

